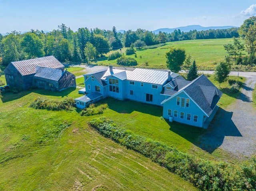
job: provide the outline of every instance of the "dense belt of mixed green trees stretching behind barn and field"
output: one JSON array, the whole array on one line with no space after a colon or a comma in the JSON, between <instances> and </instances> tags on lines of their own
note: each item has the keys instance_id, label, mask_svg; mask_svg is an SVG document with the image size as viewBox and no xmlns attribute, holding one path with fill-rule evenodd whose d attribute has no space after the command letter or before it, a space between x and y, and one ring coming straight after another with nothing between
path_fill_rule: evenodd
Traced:
<instances>
[{"instance_id":1,"label":"dense belt of mixed green trees stretching behind barn and field","mask_svg":"<svg viewBox=\"0 0 256 191\"><path fill-rule=\"evenodd\" d=\"M48 33L30 30L26 33L13 31L5 36L0 34L0 63L6 66L10 61L48 55L54 55L61 62L87 62L88 58L98 59L110 50L130 47L134 43L149 46L166 41L230 37L238 37L237 28L154 34L142 29L120 33L115 27L112 30L79 28L74 32L62 24Z\"/></svg>"}]
</instances>

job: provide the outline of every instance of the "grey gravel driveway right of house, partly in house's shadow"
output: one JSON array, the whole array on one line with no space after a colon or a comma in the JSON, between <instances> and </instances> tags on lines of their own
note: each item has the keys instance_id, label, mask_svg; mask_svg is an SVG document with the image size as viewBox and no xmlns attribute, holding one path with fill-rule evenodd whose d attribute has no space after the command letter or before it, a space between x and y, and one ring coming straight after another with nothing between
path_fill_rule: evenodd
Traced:
<instances>
[{"instance_id":1,"label":"grey gravel driveway right of house, partly in house's shadow","mask_svg":"<svg viewBox=\"0 0 256 191\"><path fill-rule=\"evenodd\" d=\"M256 108L252 105L255 83L256 77L248 77L236 102L218 110L207 132L199 138L200 148L210 153L221 148L238 157L256 153Z\"/></svg>"}]
</instances>

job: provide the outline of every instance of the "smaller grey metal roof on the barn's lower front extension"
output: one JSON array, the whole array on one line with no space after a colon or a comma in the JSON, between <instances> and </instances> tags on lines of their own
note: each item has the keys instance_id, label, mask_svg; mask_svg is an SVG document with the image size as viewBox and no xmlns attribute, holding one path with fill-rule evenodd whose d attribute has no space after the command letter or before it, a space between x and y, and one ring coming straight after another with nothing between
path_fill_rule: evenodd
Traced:
<instances>
[{"instance_id":1,"label":"smaller grey metal roof on the barn's lower front extension","mask_svg":"<svg viewBox=\"0 0 256 191\"><path fill-rule=\"evenodd\" d=\"M34 75L34 77L58 81L62 77L62 75L67 72L68 71L66 70L62 72L61 69L36 66L36 74Z\"/></svg>"}]
</instances>

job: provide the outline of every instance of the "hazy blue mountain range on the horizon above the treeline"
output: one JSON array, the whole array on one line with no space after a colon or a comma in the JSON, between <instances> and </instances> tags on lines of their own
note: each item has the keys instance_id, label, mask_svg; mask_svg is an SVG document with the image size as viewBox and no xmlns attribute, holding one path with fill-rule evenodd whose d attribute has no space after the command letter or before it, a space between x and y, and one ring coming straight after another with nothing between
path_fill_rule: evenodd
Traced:
<instances>
[{"instance_id":1,"label":"hazy blue mountain range on the horizon above the treeline","mask_svg":"<svg viewBox=\"0 0 256 191\"><path fill-rule=\"evenodd\" d=\"M180 31L183 32L189 32L190 30L197 30L197 31L205 31L209 29L229 29L229 28L238 28L236 26L211 26L211 27L202 27L200 25L189 25L189 26L184 26L184 27L177 27L177 28L161 28L152 31L155 34L158 34L160 31L161 32L166 32L166 33L172 33L174 30L180 29ZM124 33L124 30L119 30L117 32Z\"/></svg>"}]
</instances>

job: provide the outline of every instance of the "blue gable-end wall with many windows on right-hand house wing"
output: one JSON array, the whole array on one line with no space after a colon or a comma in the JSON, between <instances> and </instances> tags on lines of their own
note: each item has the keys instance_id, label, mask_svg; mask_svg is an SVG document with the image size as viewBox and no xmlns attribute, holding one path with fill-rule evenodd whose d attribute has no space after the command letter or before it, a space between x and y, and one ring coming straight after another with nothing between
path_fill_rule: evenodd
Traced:
<instances>
[{"instance_id":1,"label":"blue gable-end wall with many windows on right-hand house wing","mask_svg":"<svg viewBox=\"0 0 256 191\"><path fill-rule=\"evenodd\" d=\"M183 97L185 98L185 107L181 107L181 99L180 99L180 105L177 105L177 97ZM204 125L205 120L207 119L206 114L190 99L189 102L189 107L186 107L186 98L188 96L182 92L179 95L174 96L172 99L168 100L163 104L163 117L166 119L169 119L168 115L168 109L172 110L172 117L174 121L192 125L192 126L197 126L197 127L202 127ZM174 117L174 110L178 111L178 117ZM184 112L184 119L180 118L180 112ZM187 120L187 114L191 114L190 120ZM198 121L194 122L193 118L194 115L198 116Z\"/></svg>"}]
</instances>

